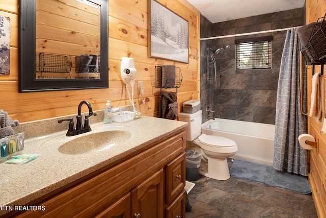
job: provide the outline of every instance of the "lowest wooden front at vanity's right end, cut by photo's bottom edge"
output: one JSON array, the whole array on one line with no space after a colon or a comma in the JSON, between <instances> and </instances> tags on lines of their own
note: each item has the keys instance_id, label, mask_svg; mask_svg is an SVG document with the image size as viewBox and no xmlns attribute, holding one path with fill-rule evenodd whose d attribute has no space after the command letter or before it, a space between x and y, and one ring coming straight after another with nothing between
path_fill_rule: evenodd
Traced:
<instances>
[{"instance_id":1,"label":"lowest wooden front at vanity's right end, cut by photo's bottom edge","mask_svg":"<svg viewBox=\"0 0 326 218\"><path fill-rule=\"evenodd\" d=\"M167 218L185 217L185 190L166 209Z\"/></svg>"}]
</instances>

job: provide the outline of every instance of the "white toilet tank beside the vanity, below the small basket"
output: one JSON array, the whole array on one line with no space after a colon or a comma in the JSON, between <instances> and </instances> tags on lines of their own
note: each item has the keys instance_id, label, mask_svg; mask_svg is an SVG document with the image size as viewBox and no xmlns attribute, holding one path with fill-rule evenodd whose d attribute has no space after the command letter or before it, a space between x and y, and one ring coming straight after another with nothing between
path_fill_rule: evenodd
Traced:
<instances>
[{"instance_id":1,"label":"white toilet tank beside the vanity, below the small basket","mask_svg":"<svg viewBox=\"0 0 326 218\"><path fill-rule=\"evenodd\" d=\"M202 130L202 111L199 110L195 113L179 113L178 120L187 122L186 126L186 140L193 141L201 134Z\"/></svg>"}]
</instances>

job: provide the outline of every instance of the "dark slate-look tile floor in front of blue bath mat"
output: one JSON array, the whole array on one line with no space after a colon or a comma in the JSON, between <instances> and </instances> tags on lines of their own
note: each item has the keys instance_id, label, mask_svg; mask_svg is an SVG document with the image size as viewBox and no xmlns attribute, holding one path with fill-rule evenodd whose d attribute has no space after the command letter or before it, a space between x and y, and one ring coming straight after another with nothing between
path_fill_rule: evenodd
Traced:
<instances>
[{"instance_id":1,"label":"dark slate-look tile floor in front of blue bath mat","mask_svg":"<svg viewBox=\"0 0 326 218\"><path fill-rule=\"evenodd\" d=\"M232 162L229 161L229 165ZM200 176L188 194L192 212L186 218L317 217L312 195L230 177L225 181Z\"/></svg>"}]
</instances>

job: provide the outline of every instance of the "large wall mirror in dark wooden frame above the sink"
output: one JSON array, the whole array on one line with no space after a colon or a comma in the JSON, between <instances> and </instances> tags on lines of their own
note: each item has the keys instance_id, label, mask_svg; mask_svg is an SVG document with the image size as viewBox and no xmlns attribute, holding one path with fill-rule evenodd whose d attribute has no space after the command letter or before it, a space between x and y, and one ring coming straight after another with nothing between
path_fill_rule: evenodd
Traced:
<instances>
[{"instance_id":1,"label":"large wall mirror in dark wooden frame above the sink","mask_svg":"<svg viewBox=\"0 0 326 218\"><path fill-rule=\"evenodd\" d=\"M21 0L19 92L108 88L108 1Z\"/></svg>"}]
</instances>

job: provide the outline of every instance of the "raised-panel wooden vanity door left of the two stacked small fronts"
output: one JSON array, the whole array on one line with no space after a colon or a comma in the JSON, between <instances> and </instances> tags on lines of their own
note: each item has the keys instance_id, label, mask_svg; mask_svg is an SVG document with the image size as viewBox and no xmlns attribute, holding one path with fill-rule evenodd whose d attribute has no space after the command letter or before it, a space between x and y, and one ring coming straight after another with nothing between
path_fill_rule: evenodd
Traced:
<instances>
[{"instance_id":1,"label":"raised-panel wooden vanity door left of the two stacked small fronts","mask_svg":"<svg viewBox=\"0 0 326 218\"><path fill-rule=\"evenodd\" d=\"M163 217L164 171L160 169L131 190L131 214L134 217ZM137 216L138 215L138 216Z\"/></svg>"}]
</instances>

